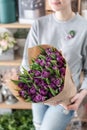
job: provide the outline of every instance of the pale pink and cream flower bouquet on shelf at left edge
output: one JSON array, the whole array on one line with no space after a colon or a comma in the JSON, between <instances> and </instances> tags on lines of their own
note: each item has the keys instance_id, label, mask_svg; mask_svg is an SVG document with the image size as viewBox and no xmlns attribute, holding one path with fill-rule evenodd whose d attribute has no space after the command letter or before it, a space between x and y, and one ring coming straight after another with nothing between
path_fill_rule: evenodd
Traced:
<instances>
[{"instance_id":1,"label":"pale pink and cream flower bouquet on shelf at left edge","mask_svg":"<svg viewBox=\"0 0 87 130\"><path fill-rule=\"evenodd\" d=\"M13 48L16 41L15 39L8 33L4 32L0 34L0 54L4 51L7 51L10 48Z\"/></svg>"}]
</instances>

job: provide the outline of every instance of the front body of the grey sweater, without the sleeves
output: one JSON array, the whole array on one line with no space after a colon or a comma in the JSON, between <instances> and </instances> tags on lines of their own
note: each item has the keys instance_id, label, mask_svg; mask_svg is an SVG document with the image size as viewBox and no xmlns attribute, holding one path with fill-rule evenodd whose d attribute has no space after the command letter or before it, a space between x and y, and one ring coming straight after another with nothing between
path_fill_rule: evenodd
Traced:
<instances>
[{"instance_id":1,"label":"front body of the grey sweater, without the sleeves","mask_svg":"<svg viewBox=\"0 0 87 130\"><path fill-rule=\"evenodd\" d=\"M79 86L79 76L82 70L82 46L87 36L87 24L81 16L75 15L68 21L58 21L54 14L42 17L36 21L38 44L51 44L62 50L69 64L73 80ZM66 39L73 30L75 36Z\"/></svg>"}]
</instances>

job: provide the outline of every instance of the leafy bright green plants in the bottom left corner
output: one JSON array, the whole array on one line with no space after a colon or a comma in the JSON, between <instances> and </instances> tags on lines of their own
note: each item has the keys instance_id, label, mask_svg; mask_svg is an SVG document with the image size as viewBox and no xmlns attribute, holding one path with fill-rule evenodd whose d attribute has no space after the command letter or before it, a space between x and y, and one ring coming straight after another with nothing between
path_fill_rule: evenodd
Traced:
<instances>
[{"instance_id":1,"label":"leafy bright green plants in the bottom left corner","mask_svg":"<svg viewBox=\"0 0 87 130\"><path fill-rule=\"evenodd\" d=\"M0 115L0 130L34 130L31 110L15 110Z\"/></svg>"}]
</instances>

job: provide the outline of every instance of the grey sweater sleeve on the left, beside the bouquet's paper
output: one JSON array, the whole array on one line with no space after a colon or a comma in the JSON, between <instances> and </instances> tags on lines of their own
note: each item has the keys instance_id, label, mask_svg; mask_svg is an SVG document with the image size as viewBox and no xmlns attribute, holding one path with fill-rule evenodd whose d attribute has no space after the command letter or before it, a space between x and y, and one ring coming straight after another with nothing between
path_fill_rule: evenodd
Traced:
<instances>
[{"instance_id":1,"label":"grey sweater sleeve on the left, beside the bouquet's paper","mask_svg":"<svg viewBox=\"0 0 87 130\"><path fill-rule=\"evenodd\" d=\"M24 53L22 58L22 63L20 65L20 71L22 72L22 67L24 67L26 70L29 70L29 63L28 63L28 48L33 47L38 44L38 36L37 36L37 24L36 21L33 23L24 47Z\"/></svg>"}]
</instances>

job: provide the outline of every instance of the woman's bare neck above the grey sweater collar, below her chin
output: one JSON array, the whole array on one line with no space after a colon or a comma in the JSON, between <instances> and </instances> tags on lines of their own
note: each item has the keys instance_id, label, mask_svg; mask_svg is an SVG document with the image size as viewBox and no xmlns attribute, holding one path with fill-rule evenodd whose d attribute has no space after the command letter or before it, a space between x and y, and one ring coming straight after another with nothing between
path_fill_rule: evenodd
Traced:
<instances>
[{"instance_id":1,"label":"woman's bare neck above the grey sweater collar, below her chin","mask_svg":"<svg viewBox=\"0 0 87 130\"><path fill-rule=\"evenodd\" d=\"M75 16L75 13L70 9L57 11L55 12L55 16L60 21L67 21Z\"/></svg>"}]
</instances>

